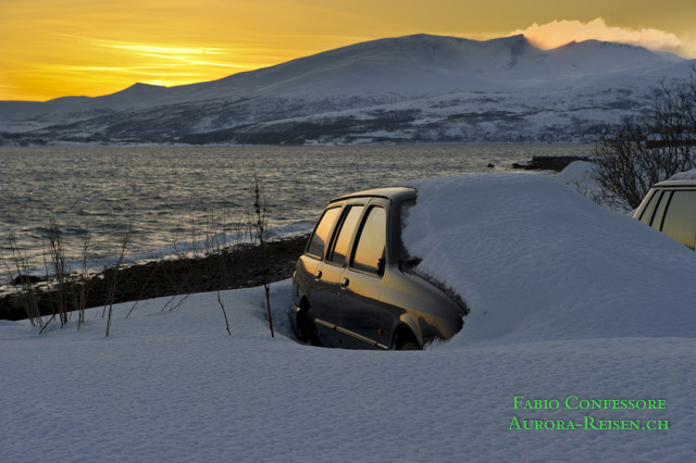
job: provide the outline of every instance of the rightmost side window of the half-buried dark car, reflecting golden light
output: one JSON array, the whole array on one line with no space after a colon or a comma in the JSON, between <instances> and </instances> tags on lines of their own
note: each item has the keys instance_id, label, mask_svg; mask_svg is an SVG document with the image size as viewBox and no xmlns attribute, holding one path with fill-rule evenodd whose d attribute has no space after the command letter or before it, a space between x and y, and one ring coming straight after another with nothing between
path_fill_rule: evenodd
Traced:
<instances>
[{"instance_id":1,"label":"rightmost side window of the half-buried dark car, reflecting golden light","mask_svg":"<svg viewBox=\"0 0 696 463\"><path fill-rule=\"evenodd\" d=\"M387 213L384 208L370 208L356 238L351 267L377 275L384 274L386 227Z\"/></svg>"}]
</instances>

